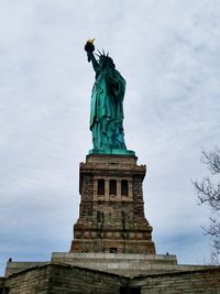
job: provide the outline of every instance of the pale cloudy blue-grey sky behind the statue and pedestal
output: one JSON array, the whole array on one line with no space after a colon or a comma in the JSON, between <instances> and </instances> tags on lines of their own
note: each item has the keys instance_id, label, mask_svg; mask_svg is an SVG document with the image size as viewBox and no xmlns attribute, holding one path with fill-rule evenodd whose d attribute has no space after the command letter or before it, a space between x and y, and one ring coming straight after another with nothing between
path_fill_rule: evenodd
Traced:
<instances>
[{"instance_id":1,"label":"pale cloudy blue-grey sky behind the statue and pedestal","mask_svg":"<svg viewBox=\"0 0 220 294\"><path fill-rule=\"evenodd\" d=\"M145 215L160 254L207 264L191 181L219 146L219 0L0 0L0 275L6 262L68 252L95 81L84 45L127 80L128 149L146 164Z\"/></svg>"}]
</instances>

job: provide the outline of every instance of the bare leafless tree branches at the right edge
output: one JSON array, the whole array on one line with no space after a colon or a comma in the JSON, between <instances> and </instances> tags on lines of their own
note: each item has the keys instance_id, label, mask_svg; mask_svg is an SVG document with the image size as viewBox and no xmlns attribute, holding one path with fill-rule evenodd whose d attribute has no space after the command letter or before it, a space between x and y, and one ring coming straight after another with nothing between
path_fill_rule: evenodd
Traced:
<instances>
[{"instance_id":1,"label":"bare leafless tree branches at the right edge","mask_svg":"<svg viewBox=\"0 0 220 294\"><path fill-rule=\"evenodd\" d=\"M211 258L213 263L220 263L220 149L211 152L202 151L201 163L211 174L193 182L199 205L208 205L211 211L209 225L204 227L205 235L211 239Z\"/></svg>"}]
</instances>

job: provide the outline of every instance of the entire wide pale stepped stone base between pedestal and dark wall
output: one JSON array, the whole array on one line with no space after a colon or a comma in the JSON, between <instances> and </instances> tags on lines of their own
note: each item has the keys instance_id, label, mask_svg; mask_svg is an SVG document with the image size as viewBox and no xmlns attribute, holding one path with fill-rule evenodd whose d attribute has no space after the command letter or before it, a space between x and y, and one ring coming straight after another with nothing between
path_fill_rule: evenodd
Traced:
<instances>
[{"instance_id":1,"label":"entire wide pale stepped stone base between pedestal and dark wall","mask_svg":"<svg viewBox=\"0 0 220 294\"><path fill-rule=\"evenodd\" d=\"M177 264L176 255L165 254L121 254L121 253L68 253L53 252L47 262L8 262L6 277L28 269L45 264L66 264L123 276L190 272L204 270L207 265ZM216 266L209 266L216 268Z\"/></svg>"}]
</instances>

